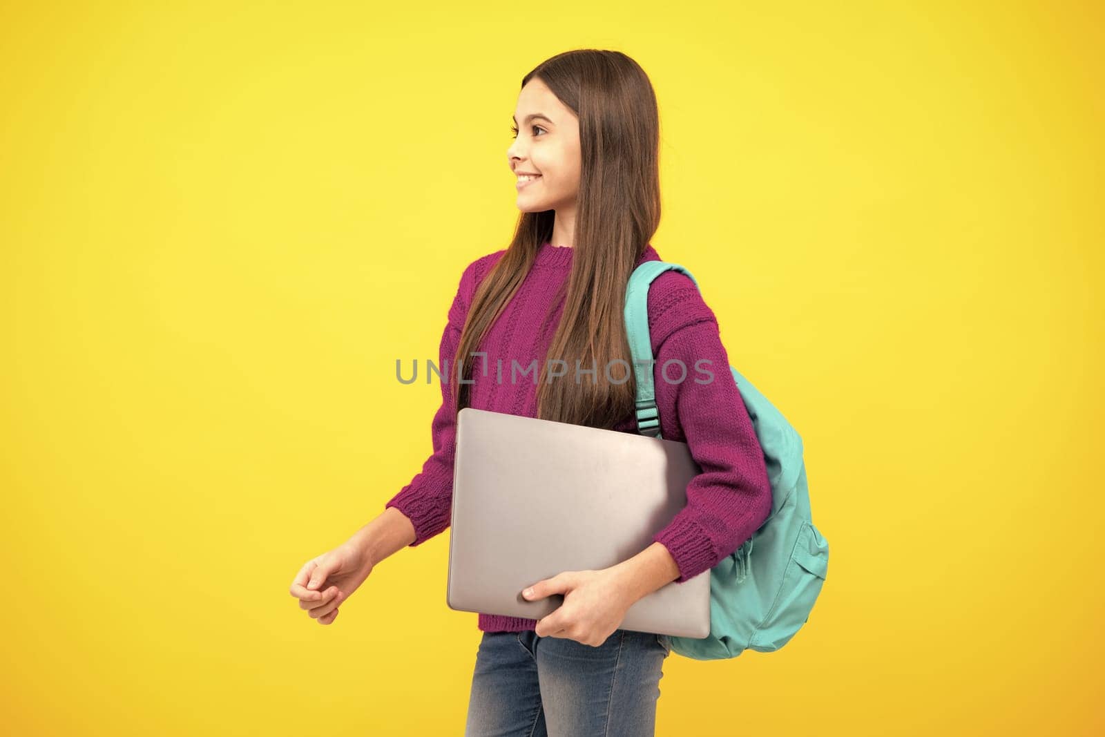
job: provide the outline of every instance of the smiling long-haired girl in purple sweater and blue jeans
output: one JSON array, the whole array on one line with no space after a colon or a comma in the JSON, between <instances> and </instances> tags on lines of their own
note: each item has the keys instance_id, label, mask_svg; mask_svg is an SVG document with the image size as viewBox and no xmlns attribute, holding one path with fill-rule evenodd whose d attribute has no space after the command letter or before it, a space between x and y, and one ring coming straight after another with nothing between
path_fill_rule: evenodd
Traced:
<instances>
[{"instance_id":1,"label":"smiling long-haired girl in purple sweater and blue jeans","mask_svg":"<svg viewBox=\"0 0 1105 737\"><path fill-rule=\"evenodd\" d=\"M442 382L422 471L379 517L296 576L292 594L320 624L377 562L449 526L461 408L638 432L623 305L633 269L660 259L649 243L660 221L652 85L619 52L558 54L522 80L512 130L507 160L522 211L514 239L464 270L441 338L446 377L460 366L466 382ZM523 593L564 594L552 613L480 614L467 735L653 734L671 640L620 629L625 611L713 568L770 513L764 453L713 310L678 272L652 283L648 305L661 431L688 444L702 473L645 550Z\"/></svg>"}]
</instances>

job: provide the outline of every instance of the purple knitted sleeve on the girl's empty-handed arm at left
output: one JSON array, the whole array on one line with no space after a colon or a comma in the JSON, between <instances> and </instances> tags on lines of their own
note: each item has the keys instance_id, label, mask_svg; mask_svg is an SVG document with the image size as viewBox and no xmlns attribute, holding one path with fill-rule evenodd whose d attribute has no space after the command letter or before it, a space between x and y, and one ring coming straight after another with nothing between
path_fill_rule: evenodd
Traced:
<instances>
[{"instance_id":1,"label":"purple knitted sleeve on the girl's empty-handed arm at left","mask_svg":"<svg viewBox=\"0 0 1105 737\"><path fill-rule=\"evenodd\" d=\"M453 453L456 441L456 407L452 389L456 381L453 356L467 318L469 306L475 294L477 270L483 259L472 262L461 275L461 282L449 308L445 329L441 334L438 369L442 375L441 407L433 415L430 434L433 453L422 464L422 470L407 486L391 497L383 508L396 507L414 525L414 541L410 547L425 543L449 527L452 516ZM448 361L448 364L446 364ZM448 370L446 370L448 369Z\"/></svg>"}]
</instances>

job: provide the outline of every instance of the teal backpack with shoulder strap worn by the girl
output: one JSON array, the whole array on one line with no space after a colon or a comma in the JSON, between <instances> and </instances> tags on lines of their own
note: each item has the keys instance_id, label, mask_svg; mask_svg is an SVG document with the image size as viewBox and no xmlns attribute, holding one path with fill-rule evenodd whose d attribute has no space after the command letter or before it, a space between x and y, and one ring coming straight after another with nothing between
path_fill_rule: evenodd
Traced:
<instances>
[{"instance_id":1,"label":"teal backpack with shoulder strap worn by the girl","mask_svg":"<svg viewBox=\"0 0 1105 737\"><path fill-rule=\"evenodd\" d=\"M633 271L625 292L638 429L652 438L661 434L648 296L652 281L669 270L686 274L698 286L691 272L678 264L646 261ZM709 635L701 640L671 638L674 652L701 661L736 657L745 650L767 653L782 647L809 620L829 568L829 543L810 518L802 439L737 369L729 369L764 449L771 514L748 540L707 571Z\"/></svg>"}]
</instances>

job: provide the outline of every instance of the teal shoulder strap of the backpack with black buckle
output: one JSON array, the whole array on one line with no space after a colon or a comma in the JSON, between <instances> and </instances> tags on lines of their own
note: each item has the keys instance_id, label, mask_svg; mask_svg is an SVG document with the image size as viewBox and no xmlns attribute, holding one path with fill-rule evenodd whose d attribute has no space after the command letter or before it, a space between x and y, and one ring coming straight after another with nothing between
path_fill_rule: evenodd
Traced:
<instances>
[{"instance_id":1,"label":"teal shoulder strap of the backpack with black buckle","mask_svg":"<svg viewBox=\"0 0 1105 737\"><path fill-rule=\"evenodd\" d=\"M642 435L660 438L660 414L656 410L656 388L653 382L652 339L649 335L649 287L665 271L686 274L698 286L698 280L680 264L667 261L645 261L630 274L625 288L625 334L633 356L636 379L636 424Z\"/></svg>"}]
</instances>

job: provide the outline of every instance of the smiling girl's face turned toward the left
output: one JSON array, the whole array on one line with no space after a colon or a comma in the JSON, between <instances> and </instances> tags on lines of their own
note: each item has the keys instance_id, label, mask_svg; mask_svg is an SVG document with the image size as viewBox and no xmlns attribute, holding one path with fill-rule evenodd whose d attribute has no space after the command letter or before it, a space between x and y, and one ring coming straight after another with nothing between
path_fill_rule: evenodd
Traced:
<instances>
[{"instance_id":1,"label":"smiling girl's face turned toward the left","mask_svg":"<svg viewBox=\"0 0 1105 737\"><path fill-rule=\"evenodd\" d=\"M514 144L507 149L523 212L575 210L579 192L579 118L539 78L518 93ZM527 181L528 180L528 181Z\"/></svg>"}]
</instances>

